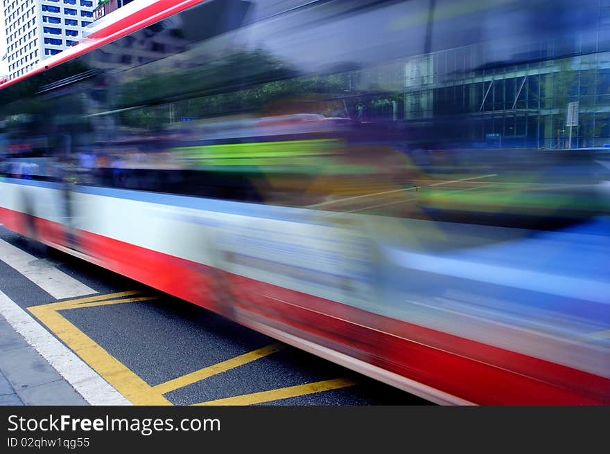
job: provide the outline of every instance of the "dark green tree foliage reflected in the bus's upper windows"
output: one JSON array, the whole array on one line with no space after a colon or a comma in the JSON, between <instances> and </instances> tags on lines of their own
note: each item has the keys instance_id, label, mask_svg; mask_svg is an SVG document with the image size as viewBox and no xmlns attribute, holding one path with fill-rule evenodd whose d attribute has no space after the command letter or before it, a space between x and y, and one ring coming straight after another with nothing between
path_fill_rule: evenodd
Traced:
<instances>
[{"instance_id":1,"label":"dark green tree foliage reflected in the bus's upper windows","mask_svg":"<svg viewBox=\"0 0 610 454\"><path fill-rule=\"evenodd\" d=\"M121 122L132 127L162 127L171 117L206 118L270 109L282 100L310 100L345 94L349 73L298 77L265 51L238 53L195 68L151 72L120 87ZM135 107L134 109L130 109ZM320 107L315 107L319 112ZM336 112L335 112L336 113Z\"/></svg>"}]
</instances>

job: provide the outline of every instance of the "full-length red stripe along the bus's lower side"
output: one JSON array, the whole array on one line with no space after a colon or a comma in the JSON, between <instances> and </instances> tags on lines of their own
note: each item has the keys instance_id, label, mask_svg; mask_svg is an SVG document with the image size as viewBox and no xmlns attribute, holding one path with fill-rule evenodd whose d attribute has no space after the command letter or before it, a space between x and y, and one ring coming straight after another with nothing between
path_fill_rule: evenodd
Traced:
<instances>
[{"instance_id":1,"label":"full-length red stripe along the bus's lower side","mask_svg":"<svg viewBox=\"0 0 610 454\"><path fill-rule=\"evenodd\" d=\"M1 209L18 232L24 215ZM41 237L59 224L37 219ZM43 230L46 230L44 233ZM82 252L107 269L173 296L318 343L467 401L484 405L608 405L610 380L550 361L413 325L356 307L218 271L85 231ZM245 320L247 322L247 320ZM246 323L247 324L247 323Z\"/></svg>"}]
</instances>

